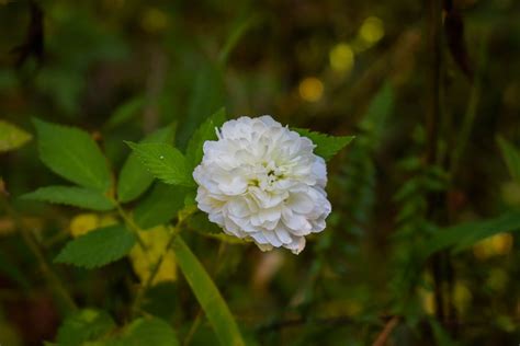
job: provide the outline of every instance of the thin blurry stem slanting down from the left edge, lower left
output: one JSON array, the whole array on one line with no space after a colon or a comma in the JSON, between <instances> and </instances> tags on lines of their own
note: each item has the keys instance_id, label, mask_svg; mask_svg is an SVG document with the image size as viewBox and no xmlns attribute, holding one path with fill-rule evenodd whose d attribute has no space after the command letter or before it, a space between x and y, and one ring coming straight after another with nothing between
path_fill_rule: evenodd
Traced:
<instances>
[{"instance_id":1,"label":"thin blurry stem slanting down from the left edge, lower left","mask_svg":"<svg viewBox=\"0 0 520 346\"><path fill-rule=\"evenodd\" d=\"M22 234L23 241L25 242L27 247L31 250L33 255L36 257L39 264L39 267L42 269L42 273L45 279L47 280L47 285L55 292L57 297L61 298L63 302L65 302L68 310L70 311L78 310L78 307L76 305L76 302L74 301L72 297L70 296L68 290L65 288L64 284L61 282L59 277L56 275L56 273L54 273L54 270L50 268L50 265L48 264L47 258L45 257L42 249L39 247L36 239L34 238L33 232L25 227L25 224L21 220L18 212L13 208L11 208L11 206L9 205L5 194L7 193L0 188L0 203L3 209L7 211L7 214L13 219L14 224L16 224L18 229L20 230L20 233Z\"/></svg>"}]
</instances>

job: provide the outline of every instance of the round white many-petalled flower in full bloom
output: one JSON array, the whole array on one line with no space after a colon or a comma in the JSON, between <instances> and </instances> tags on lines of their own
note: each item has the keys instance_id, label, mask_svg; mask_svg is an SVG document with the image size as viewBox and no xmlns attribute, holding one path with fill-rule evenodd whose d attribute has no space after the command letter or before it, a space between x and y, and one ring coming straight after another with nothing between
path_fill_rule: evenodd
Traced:
<instances>
[{"instance_id":1,"label":"round white many-petalled flower in full bloom","mask_svg":"<svg viewBox=\"0 0 520 346\"><path fill-rule=\"evenodd\" d=\"M252 239L262 250L286 247L298 254L305 235L325 229L331 206L327 168L310 139L271 116L240 117L204 143L193 172L199 208L224 232Z\"/></svg>"}]
</instances>

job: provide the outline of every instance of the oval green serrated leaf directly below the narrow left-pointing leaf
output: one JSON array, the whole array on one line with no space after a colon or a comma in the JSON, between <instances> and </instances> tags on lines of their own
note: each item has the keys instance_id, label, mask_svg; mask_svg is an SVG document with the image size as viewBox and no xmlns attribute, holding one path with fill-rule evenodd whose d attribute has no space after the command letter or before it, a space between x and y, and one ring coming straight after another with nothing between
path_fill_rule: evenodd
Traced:
<instances>
[{"instance_id":1,"label":"oval green serrated leaf directly below the narrow left-pointing leaf","mask_svg":"<svg viewBox=\"0 0 520 346\"><path fill-rule=\"evenodd\" d=\"M57 263L94 268L124 257L134 246L135 235L122 224L91 231L67 243Z\"/></svg>"}]
</instances>

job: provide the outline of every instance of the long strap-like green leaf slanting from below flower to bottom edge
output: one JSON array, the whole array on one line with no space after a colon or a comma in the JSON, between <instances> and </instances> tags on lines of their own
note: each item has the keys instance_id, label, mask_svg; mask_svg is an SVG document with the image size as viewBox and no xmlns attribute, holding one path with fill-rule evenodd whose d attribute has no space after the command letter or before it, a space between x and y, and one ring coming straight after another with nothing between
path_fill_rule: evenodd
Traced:
<instances>
[{"instance_id":1,"label":"long strap-like green leaf slanting from below flower to bottom edge","mask_svg":"<svg viewBox=\"0 0 520 346\"><path fill-rule=\"evenodd\" d=\"M188 284L206 313L221 345L245 345L237 323L206 270L180 235L173 239L172 250Z\"/></svg>"}]
</instances>

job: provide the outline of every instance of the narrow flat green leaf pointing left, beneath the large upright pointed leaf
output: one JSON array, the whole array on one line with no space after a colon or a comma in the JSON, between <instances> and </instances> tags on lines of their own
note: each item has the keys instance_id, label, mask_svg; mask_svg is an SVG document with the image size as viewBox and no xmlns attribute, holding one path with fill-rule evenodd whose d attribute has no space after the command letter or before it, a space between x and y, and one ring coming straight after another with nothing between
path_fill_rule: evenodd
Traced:
<instances>
[{"instance_id":1,"label":"narrow flat green leaf pointing left, beneath the large upright pointed leaf","mask_svg":"<svg viewBox=\"0 0 520 346\"><path fill-rule=\"evenodd\" d=\"M79 186L46 186L22 195L23 199L48 201L91 210L112 210L114 204L101 192Z\"/></svg>"}]
</instances>

